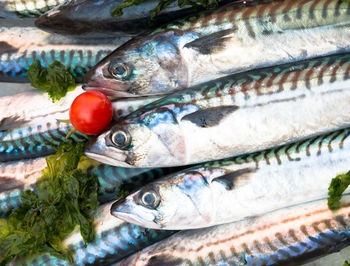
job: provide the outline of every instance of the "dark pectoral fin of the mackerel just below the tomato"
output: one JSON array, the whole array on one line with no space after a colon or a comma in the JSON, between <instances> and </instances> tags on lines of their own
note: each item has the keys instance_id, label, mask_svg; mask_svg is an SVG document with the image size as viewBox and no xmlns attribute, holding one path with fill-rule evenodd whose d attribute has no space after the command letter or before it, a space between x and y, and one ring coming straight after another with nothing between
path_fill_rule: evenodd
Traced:
<instances>
[{"instance_id":1,"label":"dark pectoral fin of the mackerel just below the tomato","mask_svg":"<svg viewBox=\"0 0 350 266\"><path fill-rule=\"evenodd\" d=\"M225 116L237 109L239 107L236 105L213 107L186 115L181 120L188 120L199 127L207 128L218 125Z\"/></svg>"}]
</instances>

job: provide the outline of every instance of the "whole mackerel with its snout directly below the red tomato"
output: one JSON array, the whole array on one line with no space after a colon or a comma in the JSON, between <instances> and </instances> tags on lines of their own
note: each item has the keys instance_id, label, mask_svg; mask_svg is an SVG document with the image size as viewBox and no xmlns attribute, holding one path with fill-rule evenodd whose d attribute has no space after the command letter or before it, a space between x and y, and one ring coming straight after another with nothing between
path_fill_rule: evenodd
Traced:
<instances>
[{"instance_id":1,"label":"whole mackerel with its snout directly below the red tomato","mask_svg":"<svg viewBox=\"0 0 350 266\"><path fill-rule=\"evenodd\" d=\"M350 126L350 54L252 70L166 96L119 120L86 155L121 167L228 158Z\"/></svg>"}]
</instances>

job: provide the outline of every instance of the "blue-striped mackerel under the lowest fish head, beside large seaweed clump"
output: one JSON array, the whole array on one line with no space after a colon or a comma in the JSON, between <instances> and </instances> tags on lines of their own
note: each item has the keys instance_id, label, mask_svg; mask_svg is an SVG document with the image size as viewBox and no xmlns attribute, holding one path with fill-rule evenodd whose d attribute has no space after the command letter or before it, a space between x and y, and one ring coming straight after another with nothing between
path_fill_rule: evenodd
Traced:
<instances>
[{"instance_id":1,"label":"blue-striped mackerel under the lowest fish head, beside large seaweed clump","mask_svg":"<svg viewBox=\"0 0 350 266\"><path fill-rule=\"evenodd\" d=\"M111 204L98 207L95 214L95 240L84 247L80 232L71 233L63 245L74 252L74 265L109 265L170 235L173 231L152 230L115 219L109 214ZM44 254L17 259L10 265L71 265Z\"/></svg>"}]
</instances>

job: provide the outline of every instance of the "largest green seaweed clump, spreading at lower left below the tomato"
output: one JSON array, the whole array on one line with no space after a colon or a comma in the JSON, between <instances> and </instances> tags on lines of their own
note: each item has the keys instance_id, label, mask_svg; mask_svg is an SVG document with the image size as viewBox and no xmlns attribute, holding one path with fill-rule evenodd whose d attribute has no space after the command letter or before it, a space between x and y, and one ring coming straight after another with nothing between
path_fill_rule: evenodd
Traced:
<instances>
[{"instance_id":1,"label":"largest green seaweed clump, spreading at lower left below the tomato","mask_svg":"<svg viewBox=\"0 0 350 266\"><path fill-rule=\"evenodd\" d=\"M98 206L98 179L87 174L84 143L69 141L46 158L37 190L24 191L22 206L0 219L0 265L14 257L48 252L72 262L62 240L79 225L86 243L94 239L92 210ZM80 168L80 164L83 167Z\"/></svg>"}]
</instances>

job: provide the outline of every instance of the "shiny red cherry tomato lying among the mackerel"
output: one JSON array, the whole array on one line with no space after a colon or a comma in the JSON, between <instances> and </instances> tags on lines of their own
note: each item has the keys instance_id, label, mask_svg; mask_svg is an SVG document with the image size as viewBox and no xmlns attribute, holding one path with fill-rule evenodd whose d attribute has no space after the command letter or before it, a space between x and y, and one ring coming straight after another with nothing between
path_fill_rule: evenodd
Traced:
<instances>
[{"instance_id":1,"label":"shiny red cherry tomato lying among the mackerel","mask_svg":"<svg viewBox=\"0 0 350 266\"><path fill-rule=\"evenodd\" d=\"M87 91L74 99L69 118L81 133L95 135L105 129L112 120L112 103L99 91Z\"/></svg>"}]
</instances>

